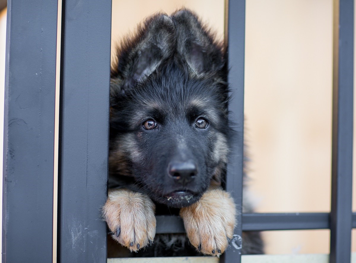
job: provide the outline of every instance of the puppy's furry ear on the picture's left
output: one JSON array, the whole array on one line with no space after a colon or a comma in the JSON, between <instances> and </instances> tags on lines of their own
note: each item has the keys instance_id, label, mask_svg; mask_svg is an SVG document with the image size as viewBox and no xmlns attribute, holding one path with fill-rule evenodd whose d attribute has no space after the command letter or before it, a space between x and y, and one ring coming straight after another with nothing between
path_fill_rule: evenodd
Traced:
<instances>
[{"instance_id":1,"label":"puppy's furry ear on the picture's left","mask_svg":"<svg viewBox=\"0 0 356 263\"><path fill-rule=\"evenodd\" d=\"M145 80L164 60L173 56L176 27L171 17L157 14L138 26L134 37L127 38L117 50L117 62L111 69L110 94L130 89Z\"/></svg>"}]
</instances>

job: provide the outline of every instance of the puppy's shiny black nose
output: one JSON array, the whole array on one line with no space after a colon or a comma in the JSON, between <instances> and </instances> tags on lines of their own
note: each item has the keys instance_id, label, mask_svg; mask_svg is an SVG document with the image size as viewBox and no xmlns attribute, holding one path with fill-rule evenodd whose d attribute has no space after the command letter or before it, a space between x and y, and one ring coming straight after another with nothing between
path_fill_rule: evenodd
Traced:
<instances>
[{"instance_id":1,"label":"puppy's shiny black nose","mask_svg":"<svg viewBox=\"0 0 356 263\"><path fill-rule=\"evenodd\" d=\"M191 182L197 173L197 165L192 162L174 162L169 165L169 175L183 185Z\"/></svg>"}]
</instances>

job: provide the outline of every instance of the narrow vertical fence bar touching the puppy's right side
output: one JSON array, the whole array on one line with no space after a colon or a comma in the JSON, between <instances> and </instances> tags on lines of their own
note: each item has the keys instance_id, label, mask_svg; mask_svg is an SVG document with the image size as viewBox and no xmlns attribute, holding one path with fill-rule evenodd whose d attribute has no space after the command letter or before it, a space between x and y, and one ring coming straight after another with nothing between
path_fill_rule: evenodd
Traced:
<instances>
[{"instance_id":1,"label":"narrow vertical fence bar touching the puppy's right side","mask_svg":"<svg viewBox=\"0 0 356 263\"><path fill-rule=\"evenodd\" d=\"M235 124L236 140L227 165L226 190L235 200L237 226L231 246L221 262L241 261L242 249L242 175L244 166L244 74L245 74L245 0L225 1L225 41L227 41L227 81L231 89L230 120Z\"/></svg>"}]
</instances>

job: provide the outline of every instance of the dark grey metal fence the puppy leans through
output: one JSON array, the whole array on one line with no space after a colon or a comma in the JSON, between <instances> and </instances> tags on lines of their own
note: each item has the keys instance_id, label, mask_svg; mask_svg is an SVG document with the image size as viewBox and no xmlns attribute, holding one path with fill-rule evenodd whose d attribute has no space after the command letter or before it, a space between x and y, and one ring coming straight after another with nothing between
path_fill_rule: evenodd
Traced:
<instances>
[{"instance_id":1,"label":"dark grey metal fence the puppy leans through","mask_svg":"<svg viewBox=\"0 0 356 263\"><path fill-rule=\"evenodd\" d=\"M63 0L59 107L59 262L106 262L106 200L111 0ZM9 0L7 7L3 168L3 262L53 257L57 1ZM350 262L354 1L334 0L333 142L330 213L242 214L245 0L226 2L228 80L239 140L226 189L235 199L236 246L242 231L330 229L330 262ZM327 91L325 91L327 92ZM157 233L184 232L182 220L157 217Z\"/></svg>"}]
</instances>

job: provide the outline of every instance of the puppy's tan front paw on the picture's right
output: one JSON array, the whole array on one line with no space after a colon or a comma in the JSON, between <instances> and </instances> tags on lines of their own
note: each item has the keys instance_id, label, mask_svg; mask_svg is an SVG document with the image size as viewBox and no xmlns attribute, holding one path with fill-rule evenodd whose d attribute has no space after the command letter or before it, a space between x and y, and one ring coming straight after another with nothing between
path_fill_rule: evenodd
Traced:
<instances>
[{"instance_id":1,"label":"puppy's tan front paw on the picture's right","mask_svg":"<svg viewBox=\"0 0 356 263\"><path fill-rule=\"evenodd\" d=\"M233 199L221 189L209 189L198 202L180 209L190 243L213 256L220 256L229 245L235 214Z\"/></svg>"}]
</instances>

